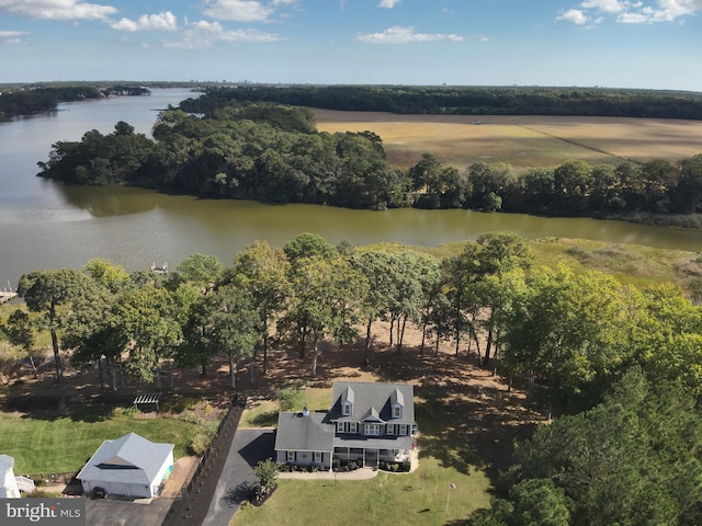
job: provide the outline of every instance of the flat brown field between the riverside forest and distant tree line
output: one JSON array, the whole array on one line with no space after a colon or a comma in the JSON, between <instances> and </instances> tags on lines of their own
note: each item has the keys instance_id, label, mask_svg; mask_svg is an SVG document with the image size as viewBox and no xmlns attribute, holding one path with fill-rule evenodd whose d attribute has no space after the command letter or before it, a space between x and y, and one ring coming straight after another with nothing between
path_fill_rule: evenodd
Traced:
<instances>
[{"instance_id":1,"label":"flat brown field between the riverside forest and distant tree line","mask_svg":"<svg viewBox=\"0 0 702 526\"><path fill-rule=\"evenodd\" d=\"M579 159L595 164L624 160L677 161L702 153L702 122L620 117L507 115L395 115L314 110L320 132L372 130L383 138L390 164L408 168L423 152L464 168L505 162L517 170ZM480 125L474 125L474 121Z\"/></svg>"}]
</instances>

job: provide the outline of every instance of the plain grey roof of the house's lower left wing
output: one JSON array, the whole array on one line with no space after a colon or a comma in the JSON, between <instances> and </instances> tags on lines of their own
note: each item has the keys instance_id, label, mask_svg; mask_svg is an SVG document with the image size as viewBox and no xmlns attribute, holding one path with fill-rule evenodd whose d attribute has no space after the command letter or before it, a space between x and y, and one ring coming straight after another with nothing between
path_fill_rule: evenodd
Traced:
<instances>
[{"instance_id":1,"label":"plain grey roof of the house's lower left wing","mask_svg":"<svg viewBox=\"0 0 702 526\"><path fill-rule=\"evenodd\" d=\"M275 450L332 451L335 428L325 418L325 413L280 413Z\"/></svg>"}]
</instances>

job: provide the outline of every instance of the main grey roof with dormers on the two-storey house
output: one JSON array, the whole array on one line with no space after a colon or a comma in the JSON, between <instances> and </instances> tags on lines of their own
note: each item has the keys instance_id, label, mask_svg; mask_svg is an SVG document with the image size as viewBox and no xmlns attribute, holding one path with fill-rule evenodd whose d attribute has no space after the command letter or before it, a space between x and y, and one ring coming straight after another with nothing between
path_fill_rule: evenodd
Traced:
<instances>
[{"instance_id":1,"label":"main grey roof with dormers on the two-storey house","mask_svg":"<svg viewBox=\"0 0 702 526\"><path fill-rule=\"evenodd\" d=\"M352 388L354 393L353 412L344 416L341 402ZM331 395L331 409L328 421L363 421L376 419L397 424L415 423L415 389L410 384L382 384L372 381L335 381ZM399 419L393 419L393 404L403 405Z\"/></svg>"}]
</instances>

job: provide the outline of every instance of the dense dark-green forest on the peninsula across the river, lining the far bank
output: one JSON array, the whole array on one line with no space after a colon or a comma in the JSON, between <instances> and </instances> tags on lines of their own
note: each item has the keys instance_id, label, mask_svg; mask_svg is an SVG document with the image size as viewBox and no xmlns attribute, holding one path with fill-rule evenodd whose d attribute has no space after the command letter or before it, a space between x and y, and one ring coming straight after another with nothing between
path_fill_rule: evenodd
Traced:
<instances>
[{"instance_id":1,"label":"dense dark-green forest on the peninsula across the river, lining the far bank","mask_svg":"<svg viewBox=\"0 0 702 526\"><path fill-rule=\"evenodd\" d=\"M227 92L228 93L228 92ZM154 139L121 122L80 141L53 145L39 175L76 184L134 184L172 192L352 208L469 208L540 215L632 218L702 211L702 155L517 173L476 162L465 170L426 153L390 167L373 132L318 133L303 107L223 100L183 101L159 114ZM689 216L699 227L699 216ZM698 221L698 222L695 222Z\"/></svg>"}]
</instances>

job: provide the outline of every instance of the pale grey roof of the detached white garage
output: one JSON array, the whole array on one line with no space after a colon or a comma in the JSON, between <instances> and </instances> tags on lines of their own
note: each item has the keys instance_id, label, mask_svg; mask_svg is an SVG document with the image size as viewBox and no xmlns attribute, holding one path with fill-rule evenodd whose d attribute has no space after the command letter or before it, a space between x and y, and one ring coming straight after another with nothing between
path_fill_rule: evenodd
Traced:
<instances>
[{"instance_id":1,"label":"pale grey roof of the detached white garage","mask_svg":"<svg viewBox=\"0 0 702 526\"><path fill-rule=\"evenodd\" d=\"M150 485L172 451L173 444L159 444L129 433L104 441L78 479Z\"/></svg>"}]
</instances>

